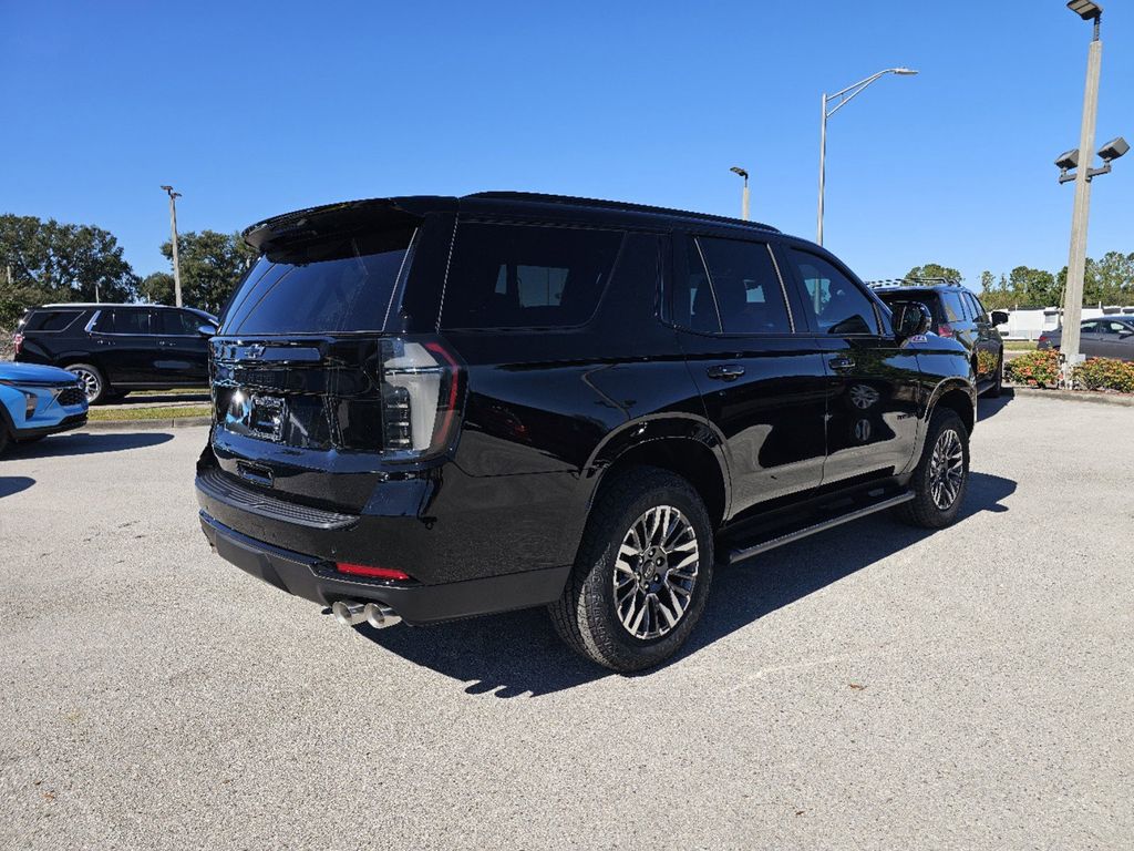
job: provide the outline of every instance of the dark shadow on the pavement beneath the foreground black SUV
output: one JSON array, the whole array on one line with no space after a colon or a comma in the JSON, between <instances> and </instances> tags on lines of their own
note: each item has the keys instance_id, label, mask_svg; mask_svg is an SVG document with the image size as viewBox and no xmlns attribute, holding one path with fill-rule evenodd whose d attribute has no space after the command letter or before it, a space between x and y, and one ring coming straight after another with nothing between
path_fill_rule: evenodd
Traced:
<instances>
[{"instance_id":1,"label":"dark shadow on the pavement beneath the foreground black SUV","mask_svg":"<svg viewBox=\"0 0 1134 851\"><path fill-rule=\"evenodd\" d=\"M1008 511L1001 500L1015 489L1009 479L972 473L957 522L981 512ZM771 550L744 565L718 567L705 613L688 643L661 667L634 676L657 674L763 615L933 533L886 515L857 521L853 534L847 534L848 528ZM540 697L616 675L568 650L543 609L425 626L374 630L364 624L355 629L384 650L469 683L465 688L469 694Z\"/></svg>"}]
</instances>

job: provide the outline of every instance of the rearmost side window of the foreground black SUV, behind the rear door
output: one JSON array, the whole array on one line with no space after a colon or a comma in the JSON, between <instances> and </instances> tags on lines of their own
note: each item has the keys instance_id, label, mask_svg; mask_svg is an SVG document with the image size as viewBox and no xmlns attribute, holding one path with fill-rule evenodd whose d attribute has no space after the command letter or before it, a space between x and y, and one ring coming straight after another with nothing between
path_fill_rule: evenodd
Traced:
<instances>
[{"instance_id":1,"label":"rearmost side window of the foreground black SUV, behind the rear door","mask_svg":"<svg viewBox=\"0 0 1134 851\"><path fill-rule=\"evenodd\" d=\"M445 288L447 328L549 328L586 322L623 235L464 222Z\"/></svg>"}]
</instances>

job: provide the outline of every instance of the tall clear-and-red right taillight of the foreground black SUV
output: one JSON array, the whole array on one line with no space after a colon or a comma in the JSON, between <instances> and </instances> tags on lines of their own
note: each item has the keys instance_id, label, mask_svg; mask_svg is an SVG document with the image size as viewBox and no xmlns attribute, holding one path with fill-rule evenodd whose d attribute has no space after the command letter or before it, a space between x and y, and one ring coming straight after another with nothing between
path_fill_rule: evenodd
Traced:
<instances>
[{"instance_id":1,"label":"tall clear-and-red right taillight of the foreground black SUV","mask_svg":"<svg viewBox=\"0 0 1134 851\"><path fill-rule=\"evenodd\" d=\"M460 399L460 364L438 340L382 342L382 449L418 458L452 443Z\"/></svg>"}]
</instances>

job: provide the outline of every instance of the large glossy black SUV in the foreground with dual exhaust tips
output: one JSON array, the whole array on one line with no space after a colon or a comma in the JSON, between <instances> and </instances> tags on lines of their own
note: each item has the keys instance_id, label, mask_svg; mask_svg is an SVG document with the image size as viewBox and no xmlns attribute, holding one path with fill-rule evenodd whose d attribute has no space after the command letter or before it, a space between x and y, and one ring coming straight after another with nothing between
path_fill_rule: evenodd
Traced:
<instances>
[{"instance_id":1,"label":"large glossy black SUV in the foreground with dual exhaust tips","mask_svg":"<svg viewBox=\"0 0 1134 851\"><path fill-rule=\"evenodd\" d=\"M201 523L340 622L547 605L632 671L686 639L716 564L886 508L957 516L965 349L775 228L484 193L245 238Z\"/></svg>"}]
</instances>

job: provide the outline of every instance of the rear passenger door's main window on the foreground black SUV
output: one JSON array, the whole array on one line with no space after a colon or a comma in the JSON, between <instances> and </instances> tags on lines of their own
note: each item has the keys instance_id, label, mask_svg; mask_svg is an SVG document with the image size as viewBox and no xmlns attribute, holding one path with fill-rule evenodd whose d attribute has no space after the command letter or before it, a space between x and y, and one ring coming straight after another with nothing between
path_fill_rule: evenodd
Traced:
<instances>
[{"instance_id":1,"label":"rear passenger door's main window on the foreground black SUV","mask_svg":"<svg viewBox=\"0 0 1134 851\"><path fill-rule=\"evenodd\" d=\"M765 243L697 237L725 334L790 334L776 264Z\"/></svg>"}]
</instances>

